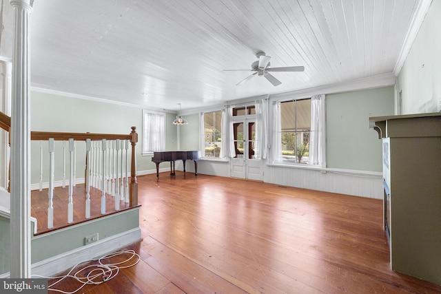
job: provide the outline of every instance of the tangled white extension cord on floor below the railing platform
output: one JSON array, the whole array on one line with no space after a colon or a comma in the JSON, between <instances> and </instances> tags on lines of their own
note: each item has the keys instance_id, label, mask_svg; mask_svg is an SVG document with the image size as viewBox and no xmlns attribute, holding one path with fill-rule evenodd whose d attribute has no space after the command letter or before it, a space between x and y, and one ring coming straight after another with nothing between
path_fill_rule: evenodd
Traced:
<instances>
[{"instance_id":1,"label":"tangled white extension cord on floor below the railing platform","mask_svg":"<svg viewBox=\"0 0 441 294\"><path fill-rule=\"evenodd\" d=\"M116 256L126 255L126 254L129 254L130 257L123 260L122 262L117 262L117 263L104 263L103 262L103 260L105 260L105 259L114 258ZM134 266L135 264L137 264L139 262L139 260L141 260L141 258L134 250L118 251L115 253L110 253L110 254L104 255L101 258L97 258L94 260L85 260L83 262L79 262L79 263L75 264L72 267L72 269L70 269L70 271L67 275L61 275L59 277L45 277L43 275L32 275L32 276L33 277L43 277L46 279L59 279L59 280L57 280L57 282L54 282L48 286L48 291L56 291L56 292L60 292L60 293L64 293L64 294L74 294L77 291L79 291L81 288L83 288L83 286L85 286L85 285L90 285L90 284L99 285L99 284L103 284L104 282L107 282L108 280L113 279L114 277L116 277L116 275L118 275L120 269L127 269L131 266ZM76 271L72 275L72 272L74 271L74 269L77 266L79 266L80 264L83 264L85 262L94 262L94 261L96 261L98 263L85 266L85 267L79 269L78 271ZM121 266L121 264L125 264L126 262L132 262L132 263L130 263L129 265ZM90 270L90 269L92 269L92 270ZM83 273L86 271L89 271L89 273L84 275ZM83 276L81 276L81 274L83 274ZM72 292L65 292L65 291L61 291L57 288L53 288L55 285L57 285L59 282L63 281L67 277L72 277L73 279L77 280L78 282L81 283L81 286L79 286L79 288L76 288L76 290L72 291Z\"/></svg>"}]
</instances>

